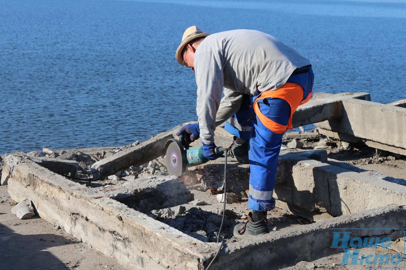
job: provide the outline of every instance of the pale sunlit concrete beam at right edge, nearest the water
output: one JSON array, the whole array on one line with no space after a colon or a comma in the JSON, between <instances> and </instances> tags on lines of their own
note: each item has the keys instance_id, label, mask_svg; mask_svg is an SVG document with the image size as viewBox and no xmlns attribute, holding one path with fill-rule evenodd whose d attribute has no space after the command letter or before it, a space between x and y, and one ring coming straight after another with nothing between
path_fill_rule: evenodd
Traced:
<instances>
[{"instance_id":1,"label":"pale sunlit concrete beam at right edge, nearest the water","mask_svg":"<svg viewBox=\"0 0 406 270\"><path fill-rule=\"evenodd\" d=\"M342 106L343 116L340 119L315 125L406 151L406 133L403 129L406 126L406 108L357 99L343 100Z\"/></svg>"}]
</instances>

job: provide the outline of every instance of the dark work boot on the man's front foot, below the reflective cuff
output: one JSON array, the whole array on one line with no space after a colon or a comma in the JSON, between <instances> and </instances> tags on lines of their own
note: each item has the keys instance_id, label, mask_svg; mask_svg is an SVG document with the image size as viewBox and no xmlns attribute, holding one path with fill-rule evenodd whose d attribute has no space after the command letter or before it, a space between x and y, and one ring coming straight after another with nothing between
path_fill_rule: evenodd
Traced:
<instances>
[{"instance_id":1,"label":"dark work boot on the man's front foot, below the reflective cuff","mask_svg":"<svg viewBox=\"0 0 406 270\"><path fill-rule=\"evenodd\" d=\"M248 221L246 221L246 223L235 224L231 229L233 230L233 235L237 238L250 238L261 234L267 234L269 228L266 222L266 218L254 221L252 213L250 212L248 213Z\"/></svg>"}]
</instances>

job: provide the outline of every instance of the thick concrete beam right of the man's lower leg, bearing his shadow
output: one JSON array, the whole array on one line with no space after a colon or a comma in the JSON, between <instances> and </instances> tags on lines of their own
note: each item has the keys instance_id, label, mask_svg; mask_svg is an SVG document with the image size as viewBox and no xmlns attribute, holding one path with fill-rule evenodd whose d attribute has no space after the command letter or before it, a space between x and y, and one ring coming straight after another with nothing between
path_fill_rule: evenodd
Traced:
<instances>
[{"instance_id":1,"label":"thick concrete beam right of the man's lower leg, bearing his shadow","mask_svg":"<svg viewBox=\"0 0 406 270\"><path fill-rule=\"evenodd\" d=\"M382 206L406 205L406 186L315 160L281 164L285 182L276 183L277 206L312 220ZM278 168L279 169L279 168ZM287 208L286 208L287 207Z\"/></svg>"}]
</instances>

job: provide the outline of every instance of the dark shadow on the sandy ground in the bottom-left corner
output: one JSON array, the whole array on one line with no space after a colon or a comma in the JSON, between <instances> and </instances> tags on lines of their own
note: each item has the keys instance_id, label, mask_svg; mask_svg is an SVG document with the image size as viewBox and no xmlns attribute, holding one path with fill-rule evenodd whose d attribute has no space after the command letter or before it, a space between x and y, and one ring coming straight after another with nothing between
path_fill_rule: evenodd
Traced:
<instances>
[{"instance_id":1,"label":"dark shadow on the sandy ground in the bottom-left corner","mask_svg":"<svg viewBox=\"0 0 406 270\"><path fill-rule=\"evenodd\" d=\"M69 269L46 249L65 244L67 239L57 234L17 234L0 223L0 269Z\"/></svg>"}]
</instances>

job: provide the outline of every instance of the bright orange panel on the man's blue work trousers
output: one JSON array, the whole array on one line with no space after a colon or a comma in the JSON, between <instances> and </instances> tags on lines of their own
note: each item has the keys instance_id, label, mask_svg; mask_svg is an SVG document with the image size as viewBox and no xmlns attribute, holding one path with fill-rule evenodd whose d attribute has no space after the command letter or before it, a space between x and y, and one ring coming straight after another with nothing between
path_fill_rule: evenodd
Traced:
<instances>
[{"instance_id":1,"label":"bright orange panel on the man's blue work trousers","mask_svg":"<svg viewBox=\"0 0 406 270\"><path fill-rule=\"evenodd\" d=\"M313 92L313 91L312 91ZM299 105L302 105L308 102L311 98L312 92L307 96L305 100L303 99L303 88L298 85L297 83L285 83L281 88L273 90L273 91L264 91L258 98L254 101L254 111L259 120L265 125L267 128L272 130L275 133L283 133L289 128L292 130L292 115L296 111ZM263 98L281 98L286 100L289 103L290 108L292 109L292 113L290 114L289 121L287 125L281 125L276 123L275 121L269 119L259 110L259 106L257 104L257 100Z\"/></svg>"}]
</instances>

